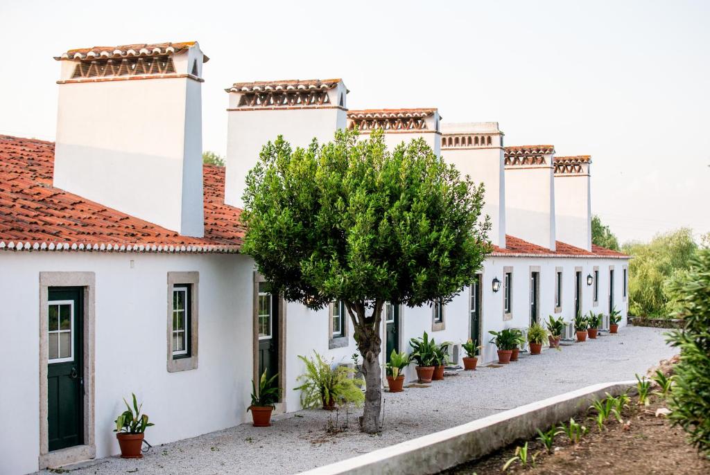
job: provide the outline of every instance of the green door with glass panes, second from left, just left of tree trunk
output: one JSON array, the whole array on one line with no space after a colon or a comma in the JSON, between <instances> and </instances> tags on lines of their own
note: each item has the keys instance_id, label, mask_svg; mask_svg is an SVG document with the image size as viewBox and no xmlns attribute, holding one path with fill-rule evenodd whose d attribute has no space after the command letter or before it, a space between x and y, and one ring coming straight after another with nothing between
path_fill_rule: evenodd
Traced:
<instances>
[{"instance_id":1,"label":"green door with glass panes, second from left, just left of tree trunk","mask_svg":"<svg viewBox=\"0 0 710 475\"><path fill-rule=\"evenodd\" d=\"M266 369L271 378L278 369L278 298L267 291L266 282L258 284L257 315L259 338L259 376Z\"/></svg>"}]
</instances>

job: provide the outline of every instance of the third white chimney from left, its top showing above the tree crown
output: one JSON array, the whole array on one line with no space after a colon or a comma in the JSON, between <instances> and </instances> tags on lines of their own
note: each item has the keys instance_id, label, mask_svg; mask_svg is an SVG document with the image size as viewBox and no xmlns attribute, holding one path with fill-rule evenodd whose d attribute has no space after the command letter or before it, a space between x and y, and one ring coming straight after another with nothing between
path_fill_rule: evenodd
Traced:
<instances>
[{"instance_id":1,"label":"third white chimney from left, its top showing above the tree crown","mask_svg":"<svg viewBox=\"0 0 710 475\"><path fill-rule=\"evenodd\" d=\"M423 138L435 154L441 155L441 119L436 108L365 109L348 112L348 128L359 130L364 137L381 128L388 150L394 150L400 143Z\"/></svg>"}]
</instances>

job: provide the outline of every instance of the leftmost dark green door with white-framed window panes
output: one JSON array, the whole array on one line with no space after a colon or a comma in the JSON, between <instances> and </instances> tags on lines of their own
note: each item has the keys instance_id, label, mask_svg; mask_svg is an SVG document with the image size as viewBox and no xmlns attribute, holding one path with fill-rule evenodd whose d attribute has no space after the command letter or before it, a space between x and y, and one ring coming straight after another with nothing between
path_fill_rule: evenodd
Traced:
<instances>
[{"instance_id":1,"label":"leftmost dark green door with white-framed window panes","mask_svg":"<svg viewBox=\"0 0 710 475\"><path fill-rule=\"evenodd\" d=\"M48 435L49 449L84 443L84 357L80 288L49 289Z\"/></svg>"}]
</instances>

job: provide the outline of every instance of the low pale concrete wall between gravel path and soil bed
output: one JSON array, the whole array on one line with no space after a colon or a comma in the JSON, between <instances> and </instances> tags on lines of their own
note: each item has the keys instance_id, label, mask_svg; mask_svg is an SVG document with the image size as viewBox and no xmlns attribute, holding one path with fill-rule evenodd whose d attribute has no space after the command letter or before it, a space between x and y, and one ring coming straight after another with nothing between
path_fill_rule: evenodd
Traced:
<instances>
[{"instance_id":1,"label":"low pale concrete wall between gravel path and soil bed","mask_svg":"<svg viewBox=\"0 0 710 475\"><path fill-rule=\"evenodd\" d=\"M489 415L451 429L435 432L368 454L302 472L302 475L437 474L535 435L535 430L577 415L604 393L613 396L635 386L635 381L594 384L542 401Z\"/></svg>"}]
</instances>

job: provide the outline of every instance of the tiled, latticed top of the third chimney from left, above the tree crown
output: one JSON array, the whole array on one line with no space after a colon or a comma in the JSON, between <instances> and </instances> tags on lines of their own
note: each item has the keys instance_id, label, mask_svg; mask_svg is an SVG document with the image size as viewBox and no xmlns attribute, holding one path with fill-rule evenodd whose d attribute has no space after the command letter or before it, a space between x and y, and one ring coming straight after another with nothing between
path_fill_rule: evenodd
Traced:
<instances>
[{"instance_id":1,"label":"tiled, latticed top of the third chimney from left, above the tree crown","mask_svg":"<svg viewBox=\"0 0 710 475\"><path fill-rule=\"evenodd\" d=\"M368 132L381 128L386 132L416 130L438 131L439 121L432 127L431 118L438 114L437 108L410 109L364 109L348 112L348 128ZM439 120L442 118L438 117ZM429 120L427 120L429 119Z\"/></svg>"}]
</instances>

